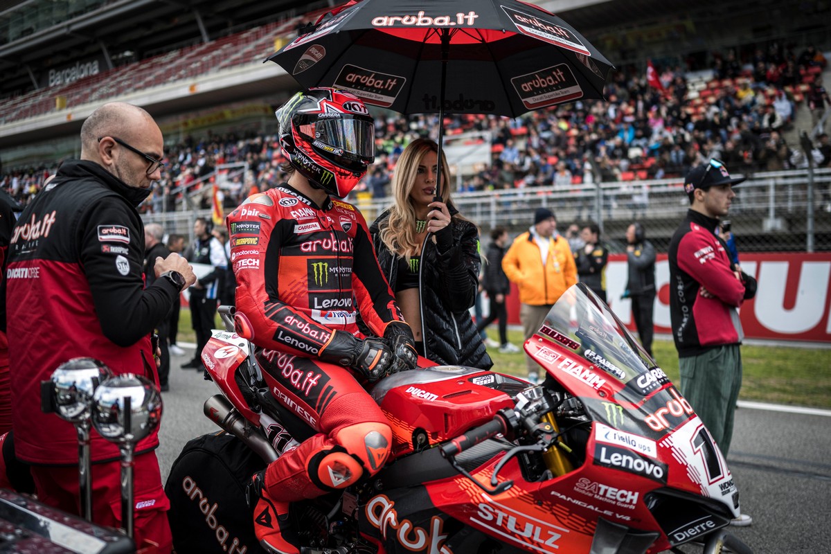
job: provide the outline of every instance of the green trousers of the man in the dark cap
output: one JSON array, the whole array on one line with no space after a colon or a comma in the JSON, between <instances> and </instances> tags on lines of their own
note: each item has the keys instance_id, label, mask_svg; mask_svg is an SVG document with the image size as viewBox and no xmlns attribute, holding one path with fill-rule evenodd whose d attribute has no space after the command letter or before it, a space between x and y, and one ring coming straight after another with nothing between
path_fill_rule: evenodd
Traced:
<instances>
[{"instance_id":1,"label":"green trousers of the man in the dark cap","mask_svg":"<svg viewBox=\"0 0 831 554\"><path fill-rule=\"evenodd\" d=\"M741 388L740 346L717 346L679 362L681 395L690 401L726 458Z\"/></svg>"}]
</instances>

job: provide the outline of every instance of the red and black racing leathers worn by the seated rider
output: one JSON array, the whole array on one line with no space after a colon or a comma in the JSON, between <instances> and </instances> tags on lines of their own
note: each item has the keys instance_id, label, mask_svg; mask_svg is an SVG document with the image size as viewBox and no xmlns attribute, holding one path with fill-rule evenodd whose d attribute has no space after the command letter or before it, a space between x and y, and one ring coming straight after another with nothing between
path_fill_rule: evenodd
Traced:
<instances>
[{"instance_id":1,"label":"red and black racing leathers worn by the seated rider","mask_svg":"<svg viewBox=\"0 0 831 554\"><path fill-rule=\"evenodd\" d=\"M333 331L363 338L356 311L377 336L403 321L366 221L352 204L327 198L318 207L283 184L246 200L227 223L237 311L276 382L284 423L306 439L268 467L268 493L294 502L376 473L389 453L389 424L351 368L318 357Z\"/></svg>"}]
</instances>

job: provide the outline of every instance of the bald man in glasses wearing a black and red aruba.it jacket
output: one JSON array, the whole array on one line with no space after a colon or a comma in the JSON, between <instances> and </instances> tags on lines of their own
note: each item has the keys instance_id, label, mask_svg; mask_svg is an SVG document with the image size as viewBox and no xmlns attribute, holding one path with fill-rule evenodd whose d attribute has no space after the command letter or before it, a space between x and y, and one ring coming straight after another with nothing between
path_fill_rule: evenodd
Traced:
<instances>
[{"instance_id":1,"label":"bald man in glasses wearing a black and red aruba.it jacket","mask_svg":"<svg viewBox=\"0 0 831 554\"><path fill-rule=\"evenodd\" d=\"M161 178L163 146L145 110L102 105L81 126L81 159L61 164L12 229L0 327L9 342L14 444L31 465L38 498L66 512L79 505L76 431L42 412L41 381L67 360L89 356L116 375L145 375L158 386L150 333L196 280L178 254L155 259L150 287L142 279L144 225L136 208ZM135 540L170 552L158 445L154 433L135 447ZM119 450L95 431L91 450L92 520L121 527Z\"/></svg>"}]
</instances>

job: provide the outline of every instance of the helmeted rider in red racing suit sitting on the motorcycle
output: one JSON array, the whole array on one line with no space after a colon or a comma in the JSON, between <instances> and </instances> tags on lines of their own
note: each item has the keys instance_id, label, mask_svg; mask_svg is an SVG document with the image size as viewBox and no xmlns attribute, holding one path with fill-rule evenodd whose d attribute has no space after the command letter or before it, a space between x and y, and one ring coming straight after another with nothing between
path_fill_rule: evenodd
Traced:
<instances>
[{"instance_id":1,"label":"helmeted rider in red racing suit sitting on the motorcycle","mask_svg":"<svg viewBox=\"0 0 831 554\"><path fill-rule=\"evenodd\" d=\"M346 196L374 159L374 126L356 96L299 92L276 115L287 183L228 217L238 323L278 380L283 423L301 444L253 476L254 531L268 552L300 552L289 503L346 488L383 467L385 415L363 385L416 366L416 346L366 221ZM356 316L383 340L358 330ZM247 320L247 321L246 321Z\"/></svg>"}]
</instances>

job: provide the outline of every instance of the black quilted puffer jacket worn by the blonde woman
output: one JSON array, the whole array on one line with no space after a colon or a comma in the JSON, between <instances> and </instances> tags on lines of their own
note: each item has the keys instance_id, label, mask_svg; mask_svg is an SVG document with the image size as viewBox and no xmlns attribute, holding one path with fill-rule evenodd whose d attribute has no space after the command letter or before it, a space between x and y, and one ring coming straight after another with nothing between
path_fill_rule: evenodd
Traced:
<instances>
[{"instance_id":1,"label":"black quilted puffer jacket worn by the blonde woman","mask_svg":"<svg viewBox=\"0 0 831 554\"><path fill-rule=\"evenodd\" d=\"M454 208L450 213L457 213ZM389 211L372 223L370 234L387 281L395 283L398 257L381 242L381 223ZM439 252L432 240L421 252L421 326L426 357L440 365L470 365L489 370L494 362L470 316L479 287L479 233L469 221L453 219L453 246ZM425 271L421 271L425 268Z\"/></svg>"}]
</instances>

